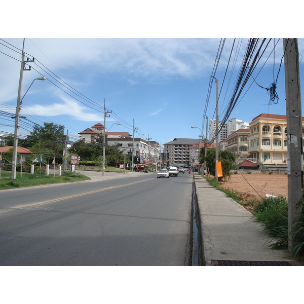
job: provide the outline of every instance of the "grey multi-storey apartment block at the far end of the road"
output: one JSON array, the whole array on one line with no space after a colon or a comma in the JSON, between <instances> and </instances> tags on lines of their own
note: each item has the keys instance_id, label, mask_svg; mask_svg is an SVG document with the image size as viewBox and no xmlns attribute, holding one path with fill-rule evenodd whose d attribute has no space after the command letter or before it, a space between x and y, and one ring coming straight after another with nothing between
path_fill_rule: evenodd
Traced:
<instances>
[{"instance_id":1,"label":"grey multi-storey apartment block at the far end of the road","mask_svg":"<svg viewBox=\"0 0 304 304\"><path fill-rule=\"evenodd\" d=\"M172 141L164 144L164 155L167 156L170 165L190 164L189 147L198 143L198 139L193 138L174 138ZM166 161L165 160L165 161Z\"/></svg>"}]
</instances>

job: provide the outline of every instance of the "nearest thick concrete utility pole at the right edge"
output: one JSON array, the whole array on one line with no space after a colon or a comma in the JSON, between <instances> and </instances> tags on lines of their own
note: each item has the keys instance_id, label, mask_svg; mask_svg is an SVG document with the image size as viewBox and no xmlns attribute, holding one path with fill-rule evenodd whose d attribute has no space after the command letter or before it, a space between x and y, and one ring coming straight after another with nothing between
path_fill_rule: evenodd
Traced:
<instances>
[{"instance_id":1,"label":"nearest thick concrete utility pole at the right edge","mask_svg":"<svg viewBox=\"0 0 304 304\"><path fill-rule=\"evenodd\" d=\"M288 147L288 250L296 245L294 232L302 213L302 108L297 39L283 39Z\"/></svg>"}]
</instances>

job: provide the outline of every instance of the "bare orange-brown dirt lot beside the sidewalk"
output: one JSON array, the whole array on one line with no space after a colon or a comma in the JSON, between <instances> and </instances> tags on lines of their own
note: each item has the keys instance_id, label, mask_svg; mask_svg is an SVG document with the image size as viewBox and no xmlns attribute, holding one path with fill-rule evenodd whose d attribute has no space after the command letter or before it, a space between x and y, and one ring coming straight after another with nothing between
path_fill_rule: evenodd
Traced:
<instances>
[{"instance_id":1,"label":"bare orange-brown dirt lot beside the sidewalk","mask_svg":"<svg viewBox=\"0 0 304 304\"><path fill-rule=\"evenodd\" d=\"M227 189L233 189L234 192L242 194L244 201L252 201L253 197L260 199L266 194L274 196L284 196L287 198L288 175L278 174L232 174L221 186Z\"/></svg>"}]
</instances>

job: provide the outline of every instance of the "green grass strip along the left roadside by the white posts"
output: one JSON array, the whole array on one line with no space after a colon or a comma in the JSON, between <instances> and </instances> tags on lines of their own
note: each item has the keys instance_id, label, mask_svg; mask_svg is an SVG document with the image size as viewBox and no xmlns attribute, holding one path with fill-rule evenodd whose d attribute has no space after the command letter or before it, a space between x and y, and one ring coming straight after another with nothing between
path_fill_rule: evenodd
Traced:
<instances>
[{"instance_id":1,"label":"green grass strip along the left roadside by the white posts","mask_svg":"<svg viewBox=\"0 0 304 304\"><path fill-rule=\"evenodd\" d=\"M67 173L67 172L65 172ZM71 173L71 174L69 174ZM23 176L16 176L16 179L12 180L11 178L1 178L0 179L0 189L12 189L18 187L30 187L30 186L39 186L46 184L55 184L55 183L64 183L64 182L75 182L88 180L90 177L87 177L80 173L69 172L68 174L59 175L39 175L39 174L29 174Z\"/></svg>"}]
</instances>

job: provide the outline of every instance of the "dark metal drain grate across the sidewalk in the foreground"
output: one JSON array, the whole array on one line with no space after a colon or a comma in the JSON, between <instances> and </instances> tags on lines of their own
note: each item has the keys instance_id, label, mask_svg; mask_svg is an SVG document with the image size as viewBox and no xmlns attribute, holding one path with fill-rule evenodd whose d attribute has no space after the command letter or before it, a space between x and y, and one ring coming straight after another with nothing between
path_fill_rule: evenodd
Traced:
<instances>
[{"instance_id":1,"label":"dark metal drain grate across the sidewalk in the foreground","mask_svg":"<svg viewBox=\"0 0 304 304\"><path fill-rule=\"evenodd\" d=\"M293 261L234 261L211 260L212 266L303 266L303 262Z\"/></svg>"}]
</instances>

